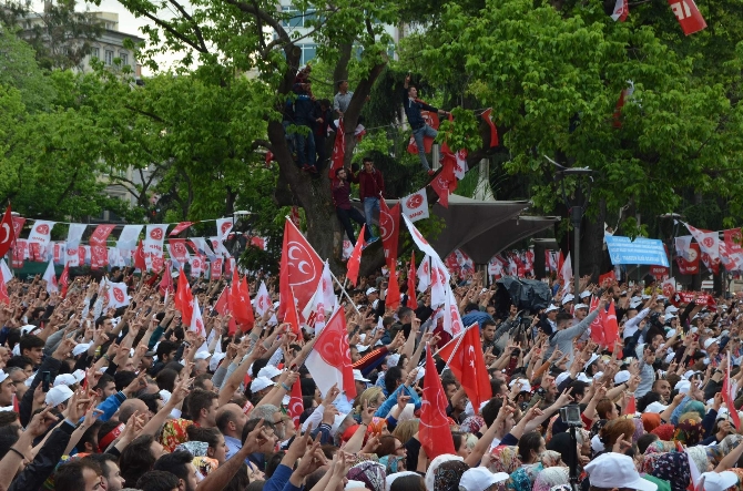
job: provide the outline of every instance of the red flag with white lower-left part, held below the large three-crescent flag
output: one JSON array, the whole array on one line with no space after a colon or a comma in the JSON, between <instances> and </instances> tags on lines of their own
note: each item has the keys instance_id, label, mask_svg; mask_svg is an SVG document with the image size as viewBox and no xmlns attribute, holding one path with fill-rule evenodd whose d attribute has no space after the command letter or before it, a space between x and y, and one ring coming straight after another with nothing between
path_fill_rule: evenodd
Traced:
<instances>
[{"instance_id":1,"label":"red flag with white lower-left part, held below the large three-crescent flag","mask_svg":"<svg viewBox=\"0 0 743 491\"><path fill-rule=\"evenodd\" d=\"M337 385L348 400L356 398L354 368L350 364L350 350L348 348L348 330L342 308L335 310L330 320L317 336L315 346L305 365L323 396L334 385ZM446 409L446 405L441 408ZM449 441L451 442L451 436L449 436ZM451 442L451 446L454 447L454 442Z\"/></svg>"}]
</instances>

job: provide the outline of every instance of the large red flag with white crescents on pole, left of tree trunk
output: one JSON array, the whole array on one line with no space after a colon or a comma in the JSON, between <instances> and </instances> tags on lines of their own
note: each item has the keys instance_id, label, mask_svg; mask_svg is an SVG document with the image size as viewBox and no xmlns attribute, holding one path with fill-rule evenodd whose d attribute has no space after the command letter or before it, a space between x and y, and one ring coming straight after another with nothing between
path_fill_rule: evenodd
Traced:
<instances>
[{"instance_id":1,"label":"large red flag with white crescents on pole, left of tree trunk","mask_svg":"<svg viewBox=\"0 0 743 491\"><path fill-rule=\"evenodd\" d=\"M323 260L292 221L284 223L284 245L279 272L278 293L282 298L293 294L299 307L307 305L323 274ZM285 316L285 303L279 306L278 317Z\"/></svg>"}]
</instances>

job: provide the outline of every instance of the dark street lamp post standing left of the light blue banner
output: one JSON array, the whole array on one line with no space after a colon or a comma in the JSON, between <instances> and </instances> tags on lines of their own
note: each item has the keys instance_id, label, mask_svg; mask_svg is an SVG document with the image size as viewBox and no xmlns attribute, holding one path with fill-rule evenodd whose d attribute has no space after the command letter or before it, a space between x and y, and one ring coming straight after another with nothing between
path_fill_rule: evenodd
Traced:
<instances>
[{"instance_id":1,"label":"dark street lamp post standing left of the light blue banner","mask_svg":"<svg viewBox=\"0 0 743 491\"><path fill-rule=\"evenodd\" d=\"M558 164L552 158L544 155L549 162L552 163L558 168L558 172L554 173L554 181L560 182L560 190L562 192L562 200L564 205L568 207L570 213L570 222L574 231L574 244L573 244L573 295L580 295L580 223L583 219L583 214L588 204L591 201L591 184L593 183L593 174L596 171L592 171L588 167L566 167ZM566 177L573 176L576 177L576 192L573 193L572 202L569 200L568 192L566 191Z\"/></svg>"}]
</instances>

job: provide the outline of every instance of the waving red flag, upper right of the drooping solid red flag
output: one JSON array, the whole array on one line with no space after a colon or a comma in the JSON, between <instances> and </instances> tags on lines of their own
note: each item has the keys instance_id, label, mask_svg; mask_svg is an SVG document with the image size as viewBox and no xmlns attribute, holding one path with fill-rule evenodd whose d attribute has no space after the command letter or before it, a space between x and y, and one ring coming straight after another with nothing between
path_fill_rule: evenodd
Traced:
<instances>
[{"instance_id":1,"label":"waving red flag, upper right of the drooping solid red flag","mask_svg":"<svg viewBox=\"0 0 743 491\"><path fill-rule=\"evenodd\" d=\"M460 338L452 339L438 352L442 359L448 360L449 369L465 388L476 415L482 402L492 397L479 333L478 327L472 325Z\"/></svg>"}]
</instances>

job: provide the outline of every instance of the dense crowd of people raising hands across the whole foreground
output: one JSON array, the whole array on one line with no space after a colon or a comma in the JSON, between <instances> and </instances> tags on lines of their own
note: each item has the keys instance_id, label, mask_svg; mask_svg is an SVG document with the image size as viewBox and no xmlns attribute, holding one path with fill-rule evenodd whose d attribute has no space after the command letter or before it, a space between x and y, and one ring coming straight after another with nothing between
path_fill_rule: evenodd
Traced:
<instances>
[{"instance_id":1,"label":"dense crowd of people raising hands across the whole foreground","mask_svg":"<svg viewBox=\"0 0 743 491\"><path fill-rule=\"evenodd\" d=\"M110 275L129 285L128 306L106 308L105 286L91 277L64 298L38 277L7 285L0 489L743 489L735 299L676 307L652 288L586 279L578 296L558 293L527 313L497 304L493 287L470 277L455 294L464 324L479 330L492 396L476 408L446 360L421 366L426 348L447 337L430 293L415 309L393 310L381 274L360 278L339 307L350 400L337 386L320 393L304 365L313 329L297 336L268 309L231 335L230 315L215 309L222 282L191 286L204 311L200 335L146 275ZM277 300L275 278L266 283ZM591 324L609 303L620 339L597 346ZM435 458L419 431L428 370L439 375L455 449ZM570 408L573 417L561 410Z\"/></svg>"}]
</instances>

